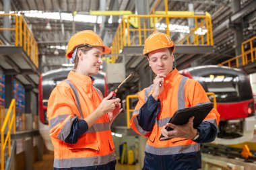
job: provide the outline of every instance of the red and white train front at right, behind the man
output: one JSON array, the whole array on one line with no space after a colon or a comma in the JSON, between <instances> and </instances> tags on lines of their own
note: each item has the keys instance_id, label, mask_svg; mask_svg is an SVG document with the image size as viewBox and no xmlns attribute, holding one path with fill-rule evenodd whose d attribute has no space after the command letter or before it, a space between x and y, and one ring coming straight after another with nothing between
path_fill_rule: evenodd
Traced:
<instances>
[{"instance_id":1,"label":"red and white train front at right, behind the man","mask_svg":"<svg viewBox=\"0 0 256 170\"><path fill-rule=\"evenodd\" d=\"M253 92L247 73L241 69L205 65L181 70L216 96L220 113L216 144L239 144L253 139L256 128ZM213 95L209 96L213 102Z\"/></svg>"}]
</instances>

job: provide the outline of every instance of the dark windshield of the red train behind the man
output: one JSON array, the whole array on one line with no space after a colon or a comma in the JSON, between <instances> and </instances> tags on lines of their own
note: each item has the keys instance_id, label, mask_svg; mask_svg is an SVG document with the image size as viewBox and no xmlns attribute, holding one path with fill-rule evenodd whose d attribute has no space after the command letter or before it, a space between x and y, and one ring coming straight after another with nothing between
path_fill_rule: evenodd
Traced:
<instances>
[{"instance_id":1,"label":"dark windshield of the red train behind the man","mask_svg":"<svg viewBox=\"0 0 256 170\"><path fill-rule=\"evenodd\" d=\"M239 77L234 77L234 75L204 75L198 77L197 81L203 85L205 91L215 93L218 102L235 102L241 100Z\"/></svg>"}]
</instances>

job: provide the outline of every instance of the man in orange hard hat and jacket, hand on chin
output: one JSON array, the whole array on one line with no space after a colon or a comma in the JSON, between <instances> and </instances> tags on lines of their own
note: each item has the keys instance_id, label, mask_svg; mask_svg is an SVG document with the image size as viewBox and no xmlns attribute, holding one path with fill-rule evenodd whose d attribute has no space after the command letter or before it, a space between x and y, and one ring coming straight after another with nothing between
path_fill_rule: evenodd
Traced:
<instances>
[{"instance_id":1,"label":"man in orange hard hat and jacket, hand on chin","mask_svg":"<svg viewBox=\"0 0 256 170\"><path fill-rule=\"evenodd\" d=\"M138 93L130 122L135 132L148 137L143 169L200 169L200 143L212 142L217 135L220 115L216 109L197 128L193 128L194 117L181 126L168 123L177 110L210 102L197 81L172 68L174 51L167 34L154 32L145 41L143 54L156 78ZM173 130L167 131L166 126Z\"/></svg>"}]
</instances>

